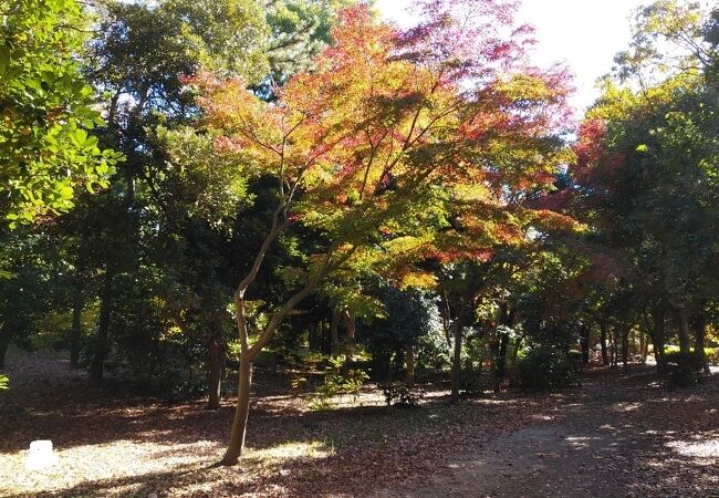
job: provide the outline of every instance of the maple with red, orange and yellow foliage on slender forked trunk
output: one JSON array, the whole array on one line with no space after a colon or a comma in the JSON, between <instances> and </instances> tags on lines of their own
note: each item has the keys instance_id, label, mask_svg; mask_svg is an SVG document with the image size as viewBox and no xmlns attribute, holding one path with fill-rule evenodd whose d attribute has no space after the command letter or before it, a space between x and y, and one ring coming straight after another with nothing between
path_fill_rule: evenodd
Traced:
<instances>
[{"instance_id":1,"label":"maple with red, orange and yellow foliage on slender forked trunk","mask_svg":"<svg viewBox=\"0 0 719 498\"><path fill-rule=\"evenodd\" d=\"M205 73L191 81L205 126L221 133L216 147L247 174L277 181L267 237L235 292L240 375L223 464L236 464L242 452L253 360L329 274L377 251L476 255L493 238L522 237L486 215L553 178L566 157L558 135L567 85L563 72L525 63L531 30L513 25L513 9L427 2L423 21L407 31L374 21L366 6L344 10L316 69L292 77L272 104L239 79ZM471 237L451 230L435 237L442 191L466 206L463 231ZM296 224L321 228L326 246L251 338L247 295L272 243Z\"/></svg>"}]
</instances>

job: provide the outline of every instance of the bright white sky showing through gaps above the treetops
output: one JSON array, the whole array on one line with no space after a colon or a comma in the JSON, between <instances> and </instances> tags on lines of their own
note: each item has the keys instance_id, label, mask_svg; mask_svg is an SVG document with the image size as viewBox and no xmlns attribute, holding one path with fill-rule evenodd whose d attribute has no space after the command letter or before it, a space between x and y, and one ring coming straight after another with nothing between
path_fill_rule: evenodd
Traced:
<instances>
[{"instance_id":1,"label":"bright white sky showing through gaps above the treetops","mask_svg":"<svg viewBox=\"0 0 719 498\"><path fill-rule=\"evenodd\" d=\"M613 65L614 54L629 41L632 12L649 0L524 0L519 20L536 28L538 65L564 62L575 75L573 104L582 110L597 96L595 81ZM376 0L387 19L411 23L405 9L410 0Z\"/></svg>"}]
</instances>

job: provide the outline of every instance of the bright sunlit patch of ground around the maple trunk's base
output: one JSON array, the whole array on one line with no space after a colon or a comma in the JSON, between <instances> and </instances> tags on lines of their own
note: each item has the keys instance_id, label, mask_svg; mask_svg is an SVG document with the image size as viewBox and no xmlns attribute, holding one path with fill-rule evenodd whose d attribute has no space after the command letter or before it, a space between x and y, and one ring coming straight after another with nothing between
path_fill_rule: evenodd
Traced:
<instances>
[{"instance_id":1,"label":"bright sunlit patch of ground around the maple trunk's base","mask_svg":"<svg viewBox=\"0 0 719 498\"><path fill-rule=\"evenodd\" d=\"M299 463L326 459L335 454L331 445L317 440L247 448L239 475L236 468L209 469L208 466L222 455L222 449L221 445L209 440L175 444L169 435L161 444L116 440L60 449L58 465L43 471L24 468L27 452L6 454L0 457L0 468L12 477L0 481L0 495L64 496L91 490L103 496L127 496L176 486L176 495L194 496L211 492L216 487L237 486L238 479L249 485L259 475L288 477ZM192 478L194 475L198 478ZM273 489L278 495L286 491L278 485Z\"/></svg>"}]
</instances>

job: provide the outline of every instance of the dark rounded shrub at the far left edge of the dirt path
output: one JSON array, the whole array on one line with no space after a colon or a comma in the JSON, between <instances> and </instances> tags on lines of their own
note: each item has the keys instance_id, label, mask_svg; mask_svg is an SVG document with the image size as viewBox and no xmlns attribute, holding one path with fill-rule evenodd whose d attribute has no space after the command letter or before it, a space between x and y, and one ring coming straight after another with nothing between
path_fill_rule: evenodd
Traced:
<instances>
[{"instance_id":1,"label":"dark rounded shrub at the far left edge of the dirt path","mask_svg":"<svg viewBox=\"0 0 719 498\"><path fill-rule=\"evenodd\" d=\"M517 366L519 385L527 391L561 390L579 384L576 365L561 351L532 349Z\"/></svg>"}]
</instances>

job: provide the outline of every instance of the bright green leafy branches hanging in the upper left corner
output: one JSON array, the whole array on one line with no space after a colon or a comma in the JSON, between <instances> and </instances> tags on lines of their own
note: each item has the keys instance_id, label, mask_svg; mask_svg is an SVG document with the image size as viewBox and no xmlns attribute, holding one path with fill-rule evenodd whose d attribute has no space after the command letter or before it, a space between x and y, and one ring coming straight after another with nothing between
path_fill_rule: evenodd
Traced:
<instances>
[{"instance_id":1,"label":"bright green leafy branches hanging in the upper left corner","mask_svg":"<svg viewBox=\"0 0 719 498\"><path fill-rule=\"evenodd\" d=\"M85 24L75 0L0 7L0 216L10 227L71 209L74 187L106 186L121 158L91 135L102 120L76 62Z\"/></svg>"}]
</instances>

